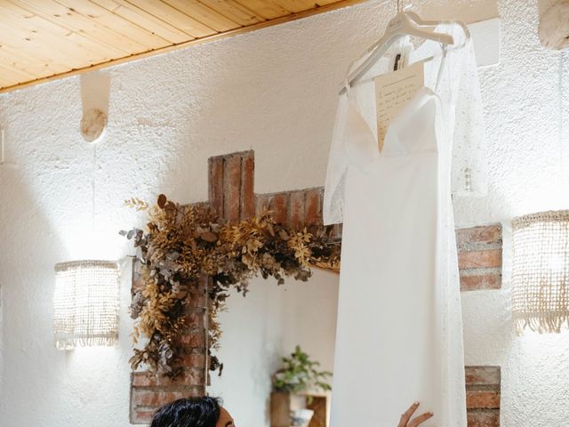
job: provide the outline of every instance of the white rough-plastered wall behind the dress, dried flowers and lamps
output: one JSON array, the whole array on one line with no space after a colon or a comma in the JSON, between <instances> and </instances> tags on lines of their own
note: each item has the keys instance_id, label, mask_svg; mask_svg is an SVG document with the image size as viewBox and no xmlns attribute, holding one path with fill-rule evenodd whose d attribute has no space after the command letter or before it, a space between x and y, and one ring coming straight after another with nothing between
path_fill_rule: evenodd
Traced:
<instances>
[{"instance_id":1,"label":"white rough-plastered wall behind the dress, dried flowers and lamps","mask_svg":"<svg viewBox=\"0 0 569 427\"><path fill-rule=\"evenodd\" d=\"M78 133L80 79L0 96L7 160L18 165L0 167L2 427L128 425L128 268L119 345L65 353L52 347L53 264L130 253L116 230L142 218L124 209L121 200L149 199L161 191L182 202L202 200L206 160L212 155L254 149L259 192L322 185L338 82L349 62L381 35L395 0L387 3L369 2L111 68L108 133L97 148L94 236L93 151ZM538 42L538 10L544 4L414 4L430 17L473 21L499 12L502 19L501 65L480 71L489 194L457 199L458 225L509 222L517 214L567 207L569 137L562 118L569 113L569 62ZM567 334L517 338L510 333L508 230L505 247L504 290L463 297L467 363L502 365L503 426L568 426ZM243 425L264 425L267 377L251 377L252 367L260 364L268 375L276 366L276 352L302 340L326 359L324 344L317 346L310 333L285 332L279 322L317 323L330 336L336 284L330 279L326 287L328 279L317 275L309 287L319 301L330 300L320 323L311 318L307 301L298 313L285 305L301 300L295 283L284 291L255 281L255 294L234 301L223 315L227 370L214 380L214 390L225 396ZM284 292L284 299L276 301ZM276 335L282 341L273 333L282 334ZM265 336L271 338L265 341Z\"/></svg>"}]
</instances>

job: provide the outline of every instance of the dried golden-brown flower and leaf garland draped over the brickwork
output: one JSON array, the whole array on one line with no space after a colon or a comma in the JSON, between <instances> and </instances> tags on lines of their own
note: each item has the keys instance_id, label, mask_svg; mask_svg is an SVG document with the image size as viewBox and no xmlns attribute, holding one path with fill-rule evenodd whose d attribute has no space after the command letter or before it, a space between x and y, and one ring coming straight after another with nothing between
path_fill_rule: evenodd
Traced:
<instances>
[{"instance_id":1,"label":"dried golden-brown flower and leaf garland draped over the brickwork","mask_svg":"<svg viewBox=\"0 0 569 427\"><path fill-rule=\"evenodd\" d=\"M180 373L178 338L184 332L184 306L199 281L208 286L209 346L220 346L217 320L226 308L228 291L247 294L251 278L272 277L277 284L285 277L306 281L310 264L339 270L340 244L329 238L330 230L315 226L291 230L276 224L270 213L237 224L221 223L206 205L180 205L160 195L156 205L132 198L125 205L148 212L145 230L120 234L137 248L142 285L132 297L131 316L136 320L134 342L147 339L134 349L132 369L142 364L152 374ZM221 369L212 356L210 369Z\"/></svg>"}]
</instances>

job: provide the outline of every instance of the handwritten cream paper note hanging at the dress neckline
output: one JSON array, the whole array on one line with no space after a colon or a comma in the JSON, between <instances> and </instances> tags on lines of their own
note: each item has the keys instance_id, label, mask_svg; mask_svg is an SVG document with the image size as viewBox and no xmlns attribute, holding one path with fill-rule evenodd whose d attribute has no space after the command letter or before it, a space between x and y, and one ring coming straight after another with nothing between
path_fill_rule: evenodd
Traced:
<instances>
[{"instance_id":1,"label":"handwritten cream paper note hanging at the dress neckline","mask_svg":"<svg viewBox=\"0 0 569 427\"><path fill-rule=\"evenodd\" d=\"M377 111L377 143L381 151L391 120L425 85L424 63L416 62L409 67L375 77L373 81Z\"/></svg>"}]
</instances>

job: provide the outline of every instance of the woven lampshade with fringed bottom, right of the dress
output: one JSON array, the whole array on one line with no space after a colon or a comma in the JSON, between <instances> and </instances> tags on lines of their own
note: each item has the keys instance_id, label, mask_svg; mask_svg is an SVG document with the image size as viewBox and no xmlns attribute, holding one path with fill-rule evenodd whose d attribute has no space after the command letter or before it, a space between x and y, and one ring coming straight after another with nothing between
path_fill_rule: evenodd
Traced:
<instances>
[{"instance_id":1,"label":"woven lampshade with fringed bottom, right of the dress","mask_svg":"<svg viewBox=\"0 0 569 427\"><path fill-rule=\"evenodd\" d=\"M569 326L569 211L550 211L512 222L513 318L517 333Z\"/></svg>"}]
</instances>

